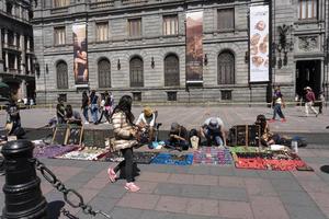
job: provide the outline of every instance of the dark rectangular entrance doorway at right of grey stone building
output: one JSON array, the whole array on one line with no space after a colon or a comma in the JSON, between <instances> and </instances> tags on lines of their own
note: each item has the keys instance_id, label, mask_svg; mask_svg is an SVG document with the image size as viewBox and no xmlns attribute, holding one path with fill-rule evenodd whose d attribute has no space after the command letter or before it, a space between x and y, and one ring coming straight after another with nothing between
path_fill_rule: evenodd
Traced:
<instances>
[{"instance_id":1,"label":"dark rectangular entrance doorway at right of grey stone building","mask_svg":"<svg viewBox=\"0 0 329 219\"><path fill-rule=\"evenodd\" d=\"M303 60L296 64L296 94L305 95L304 88L310 87L318 96L321 91L321 60Z\"/></svg>"}]
</instances>

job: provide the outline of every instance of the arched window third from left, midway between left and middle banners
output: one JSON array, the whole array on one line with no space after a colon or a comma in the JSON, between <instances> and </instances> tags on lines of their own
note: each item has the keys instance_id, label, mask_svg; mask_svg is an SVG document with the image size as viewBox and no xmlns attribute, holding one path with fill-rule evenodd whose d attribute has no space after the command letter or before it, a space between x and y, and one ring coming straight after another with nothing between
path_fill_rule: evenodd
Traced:
<instances>
[{"instance_id":1,"label":"arched window third from left, midway between left and middle banners","mask_svg":"<svg viewBox=\"0 0 329 219\"><path fill-rule=\"evenodd\" d=\"M131 59L131 87L144 87L143 60L139 57Z\"/></svg>"}]
</instances>

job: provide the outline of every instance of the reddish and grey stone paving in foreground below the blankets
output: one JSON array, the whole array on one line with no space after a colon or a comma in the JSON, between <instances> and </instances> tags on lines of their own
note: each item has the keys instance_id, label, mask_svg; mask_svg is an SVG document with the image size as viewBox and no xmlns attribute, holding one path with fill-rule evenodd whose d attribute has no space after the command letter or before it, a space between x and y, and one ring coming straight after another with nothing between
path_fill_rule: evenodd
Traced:
<instances>
[{"instance_id":1,"label":"reddish and grey stone paving in foreground below the blankets","mask_svg":"<svg viewBox=\"0 0 329 219\"><path fill-rule=\"evenodd\" d=\"M329 174L320 170L322 165L328 165L329 155L326 150L319 153L316 149L307 148L299 152L303 159L314 159L308 164L315 172L140 164L138 168L141 171L136 183L141 191L135 194L124 188L123 180L114 184L109 182L106 168L114 163L56 159L42 161L67 187L81 193L86 203L95 210L111 212L114 219L329 218ZM50 206L64 201L63 194L41 178L43 194ZM0 176L0 186L3 184L4 176ZM2 193L1 208L3 201ZM91 218L80 209L72 209L68 205L65 208L77 218ZM61 215L56 218L67 217Z\"/></svg>"}]
</instances>

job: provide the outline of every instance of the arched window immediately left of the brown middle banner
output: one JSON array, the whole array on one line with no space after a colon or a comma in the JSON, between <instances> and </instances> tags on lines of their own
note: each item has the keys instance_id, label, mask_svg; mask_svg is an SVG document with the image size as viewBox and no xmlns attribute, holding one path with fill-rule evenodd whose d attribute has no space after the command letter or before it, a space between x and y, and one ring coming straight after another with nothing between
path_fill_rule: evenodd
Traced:
<instances>
[{"instance_id":1,"label":"arched window immediately left of the brown middle banner","mask_svg":"<svg viewBox=\"0 0 329 219\"><path fill-rule=\"evenodd\" d=\"M180 85L180 61L175 55L164 58L164 87Z\"/></svg>"}]
</instances>

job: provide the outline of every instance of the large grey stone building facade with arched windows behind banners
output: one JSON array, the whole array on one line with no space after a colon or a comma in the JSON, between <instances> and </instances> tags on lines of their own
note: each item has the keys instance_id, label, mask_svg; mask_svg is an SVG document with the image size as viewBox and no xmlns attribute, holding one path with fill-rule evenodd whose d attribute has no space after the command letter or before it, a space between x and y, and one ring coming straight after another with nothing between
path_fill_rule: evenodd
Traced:
<instances>
[{"instance_id":1,"label":"large grey stone building facade with arched windows behind banners","mask_svg":"<svg viewBox=\"0 0 329 219\"><path fill-rule=\"evenodd\" d=\"M271 3L271 83L249 83L251 4ZM34 42L38 102L111 91L141 102L265 102L271 85L294 100L328 90L326 0L38 0ZM202 10L203 84L185 83L185 14ZM327 21L327 22L326 22ZM88 87L75 84L72 25L87 23ZM281 26L281 28L280 28ZM286 32L284 32L286 31ZM285 35L283 45L281 37ZM308 69L308 70L305 70Z\"/></svg>"}]
</instances>

